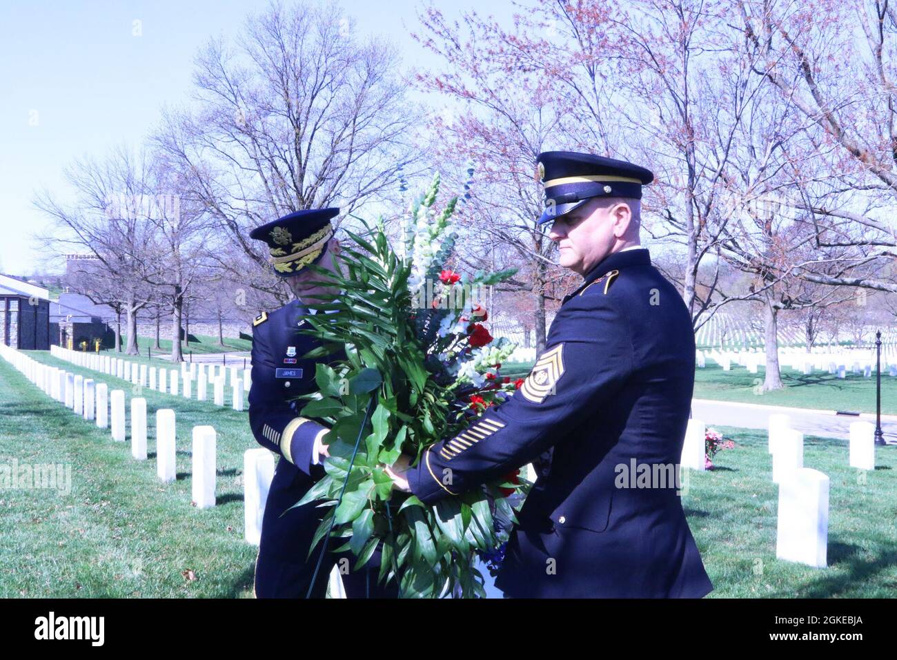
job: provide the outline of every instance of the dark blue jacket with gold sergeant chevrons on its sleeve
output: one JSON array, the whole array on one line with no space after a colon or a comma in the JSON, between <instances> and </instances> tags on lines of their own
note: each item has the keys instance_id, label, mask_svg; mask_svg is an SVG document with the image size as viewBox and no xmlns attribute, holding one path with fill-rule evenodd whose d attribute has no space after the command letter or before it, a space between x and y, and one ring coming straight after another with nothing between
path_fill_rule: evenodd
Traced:
<instances>
[{"instance_id":1,"label":"dark blue jacket with gold sergeant chevrons on its sleeve","mask_svg":"<svg viewBox=\"0 0 897 660\"><path fill-rule=\"evenodd\" d=\"M523 386L433 445L409 484L433 503L551 449L496 580L505 594L701 597L713 586L675 480L660 479L680 462L693 385L682 298L647 250L614 253L564 299ZM655 488L617 487L630 484L620 466L643 463Z\"/></svg>"}]
</instances>

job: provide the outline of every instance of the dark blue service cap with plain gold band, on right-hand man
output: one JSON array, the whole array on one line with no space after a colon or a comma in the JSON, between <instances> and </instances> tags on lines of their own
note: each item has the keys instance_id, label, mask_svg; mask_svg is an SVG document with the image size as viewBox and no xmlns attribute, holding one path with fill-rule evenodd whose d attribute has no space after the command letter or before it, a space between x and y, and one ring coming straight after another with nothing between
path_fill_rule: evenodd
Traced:
<instances>
[{"instance_id":1,"label":"dark blue service cap with plain gold band, on right-hand man","mask_svg":"<svg viewBox=\"0 0 897 660\"><path fill-rule=\"evenodd\" d=\"M539 154L536 178L545 190L545 210L538 224L570 213L596 197L641 198L641 187L654 174L633 163L594 154L546 151Z\"/></svg>"}]
</instances>

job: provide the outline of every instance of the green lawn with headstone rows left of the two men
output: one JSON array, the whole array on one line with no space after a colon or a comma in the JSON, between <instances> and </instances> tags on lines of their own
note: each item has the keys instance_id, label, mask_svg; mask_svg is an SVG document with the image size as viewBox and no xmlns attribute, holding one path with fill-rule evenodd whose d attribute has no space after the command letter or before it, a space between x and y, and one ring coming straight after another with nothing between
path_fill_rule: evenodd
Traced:
<instances>
[{"instance_id":1,"label":"green lawn with headstone rows left of the two men","mask_svg":"<svg viewBox=\"0 0 897 660\"><path fill-rule=\"evenodd\" d=\"M149 458L135 461L134 386L48 352L29 354L125 390L127 437L113 442L108 428L75 416L0 360L0 464L62 463L72 475L69 494L0 489L0 597L252 597L257 547L243 540L242 467L243 452L258 444L247 414L144 389ZM225 394L230 404L230 387ZM162 408L177 415L178 479L170 484L155 472ZM217 505L205 510L190 505L191 434L202 424L217 431L218 456Z\"/></svg>"}]
</instances>

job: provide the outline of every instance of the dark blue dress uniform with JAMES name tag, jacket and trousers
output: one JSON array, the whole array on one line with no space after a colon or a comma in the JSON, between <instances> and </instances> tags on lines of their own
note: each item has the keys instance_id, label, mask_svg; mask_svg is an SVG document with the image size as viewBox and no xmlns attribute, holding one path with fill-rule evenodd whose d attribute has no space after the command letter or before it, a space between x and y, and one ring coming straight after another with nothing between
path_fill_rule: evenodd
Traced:
<instances>
[{"instance_id":1,"label":"dark blue dress uniform with JAMES name tag, jacket and trousers","mask_svg":"<svg viewBox=\"0 0 897 660\"><path fill-rule=\"evenodd\" d=\"M318 389L315 383L318 360L302 359L320 345L318 339L299 331L306 314L308 310L293 301L270 314L262 314L253 328L249 425L258 444L282 457L274 470L262 520L255 569L255 594L259 598L304 598L321 548L318 544L310 559L306 559L321 519L321 509L314 503L290 509L324 476L320 465L311 464L311 452L315 437L327 433L327 429L302 418L303 401L292 400ZM290 511L284 515L287 509ZM350 553L327 553L313 596L324 596L330 570L343 558L351 560L354 566ZM376 559L376 563L371 560L369 569L379 569L379 558ZM377 573L372 569L370 573L368 570L344 573L346 594L350 597L394 595L395 587L377 585Z\"/></svg>"}]
</instances>

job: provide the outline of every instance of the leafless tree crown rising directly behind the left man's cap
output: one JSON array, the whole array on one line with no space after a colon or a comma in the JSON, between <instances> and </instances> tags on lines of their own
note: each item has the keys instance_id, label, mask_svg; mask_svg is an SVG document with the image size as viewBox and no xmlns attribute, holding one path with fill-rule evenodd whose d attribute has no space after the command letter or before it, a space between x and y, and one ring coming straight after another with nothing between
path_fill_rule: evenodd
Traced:
<instances>
[{"instance_id":1,"label":"leafless tree crown rising directly behind the left man's cap","mask_svg":"<svg viewBox=\"0 0 897 660\"><path fill-rule=\"evenodd\" d=\"M337 4L271 4L239 39L211 40L197 55L197 110L164 113L156 144L256 266L266 254L248 240L252 228L389 198L396 173L419 158L395 48L354 34Z\"/></svg>"}]
</instances>

